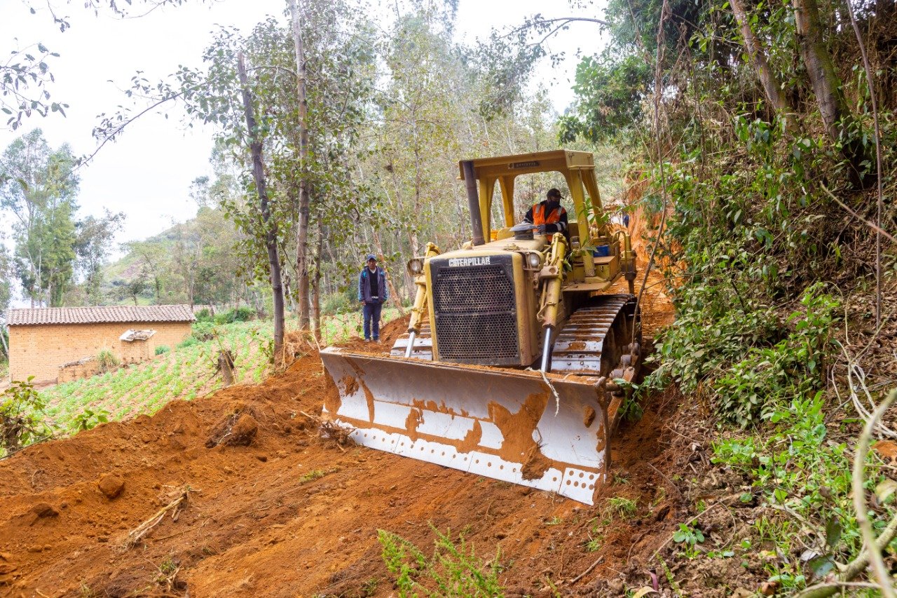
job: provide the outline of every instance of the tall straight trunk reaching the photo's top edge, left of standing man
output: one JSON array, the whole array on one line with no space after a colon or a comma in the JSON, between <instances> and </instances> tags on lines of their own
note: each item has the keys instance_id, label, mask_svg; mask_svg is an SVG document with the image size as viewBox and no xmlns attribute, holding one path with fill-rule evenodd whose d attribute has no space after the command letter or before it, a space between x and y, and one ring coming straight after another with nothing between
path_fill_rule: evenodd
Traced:
<instances>
[{"instance_id":1,"label":"tall straight trunk reaching the photo's top edge, left of standing man","mask_svg":"<svg viewBox=\"0 0 897 598\"><path fill-rule=\"evenodd\" d=\"M292 41L296 47L296 96L299 101L299 230L296 233L296 276L299 301L299 328L309 329L309 104L305 93L305 47L300 29L297 0L290 0Z\"/></svg>"}]
</instances>

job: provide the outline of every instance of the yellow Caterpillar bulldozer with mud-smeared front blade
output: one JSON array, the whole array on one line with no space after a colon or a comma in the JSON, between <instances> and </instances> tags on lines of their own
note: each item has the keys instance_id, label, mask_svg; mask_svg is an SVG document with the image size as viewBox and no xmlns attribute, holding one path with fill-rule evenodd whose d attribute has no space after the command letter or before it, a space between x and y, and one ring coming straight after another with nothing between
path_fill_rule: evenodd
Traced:
<instances>
[{"instance_id":1,"label":"yellow Caterpillar bulldozer with mud-smeared front blade","mask_svg":"<svg viewBox=\"0 0 897 598\"><path fill-rule=\"evenodd\" d=\"M640 366L630 235L614 231L588 152L458 169L472 240L408 260L414 307L388 356L321 351L325 417L357 444L592 505ZM573 207L569 233L550 240L514 222L515 181L541 172L562 175ZM610 293L622 280L629 292Z\"/></svg>"}]
</instances>

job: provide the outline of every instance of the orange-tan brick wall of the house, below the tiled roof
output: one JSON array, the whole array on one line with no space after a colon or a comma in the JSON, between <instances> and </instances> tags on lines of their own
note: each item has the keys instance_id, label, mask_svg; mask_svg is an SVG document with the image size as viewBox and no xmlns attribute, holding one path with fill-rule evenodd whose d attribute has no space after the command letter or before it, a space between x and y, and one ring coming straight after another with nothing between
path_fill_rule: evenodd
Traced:
<instances>
[{"instance_id":1,"label":"orange-tan brick wall of the house, below the tiled roof","mask_svg":"<svg viewBox=\"0 0 897 598\"><path fill-rule=\"evenodd\" d=\"M120 359L119 340L126 330L152 329L155 346L174 347L190 334L190 322L116 322L44 324L9 327L9 374L12 380L34 376L35 383L56 381L59 366L109 349Z\"/></svg>"}]
</instances>

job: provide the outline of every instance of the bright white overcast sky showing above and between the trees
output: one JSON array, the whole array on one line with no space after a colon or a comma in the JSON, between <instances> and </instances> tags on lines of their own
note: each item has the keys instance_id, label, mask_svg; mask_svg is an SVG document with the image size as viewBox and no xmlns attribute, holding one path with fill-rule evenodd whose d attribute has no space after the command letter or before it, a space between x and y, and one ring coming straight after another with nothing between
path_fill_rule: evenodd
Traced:
<instances>
[{"instance_id":1,"label":"bright white overcast sky showing above and between the trees","mask_svg":"<svg viewBox=\"0 0 897 598\"><path fill-rule=\"evenodd\" d=\"M112 113L125 103L122 90L136 71L144 71L150 81L155 81L179 65L202 66L202 50L218 25L248 31L268 14L283 19L285 7L284 0L221 0L211 4L187 0L182 6L123 20L108 11L94 15L83 8L81 0L68 4L50 1L58 6L58 14L69 17L69 30L58 30L46 3L0 0L0 40L4 40L4 48L24 48L39 41L60 54L51 63L56 82L49 91L53 101L69 104L67 116L32 117L14 133L0 128L0 150L15 137L39 127L50 145L68 143L74 154L90 154L95 146L91 129L99 120L97 115ZM394 6L394 1L390 0L388 6ZM30 14L31 4L37 14ZM546 17L570 13L564 4L556 4L549 9L543 0L460 0L457 36L472 42L488 35L492 27L502 29L534 13ZM598 12L603 12L604 2L599 4L601 8L588 16L601 16ZM388 21L390 11L384 9L382 13ZM592 54L600 45L597 27L588 23L574 25L551 41L553 51L564 51L570 58L554 69L546 61L535 84L552 88L556 110L562 111L572 98L570 80L577 62L573 56L579 47ZM125 212L119 242L152 236L172 222L192 217L196 204L189 198L188 189L197 176L211 174L211 137L211 128L185 128L177 108L170 109L169 119L162 115L139 119L118 143L106 145L79 171L79 214L100 215L104 207ZM0 220L0 225L7 229L9 220Z\"/></svg>"}]
</instances>

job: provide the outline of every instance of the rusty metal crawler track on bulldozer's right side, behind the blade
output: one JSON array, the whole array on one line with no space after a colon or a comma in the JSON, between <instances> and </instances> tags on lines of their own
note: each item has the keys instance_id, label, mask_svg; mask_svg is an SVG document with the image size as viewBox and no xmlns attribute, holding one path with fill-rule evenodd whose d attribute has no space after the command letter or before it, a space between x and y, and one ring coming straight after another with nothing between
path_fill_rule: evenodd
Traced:
<instances>
[{"instance_id":1,"label":"rusty metal crawler track on bulldozer's right side, behind the blade","mask_svg":"<svg viewBox=\"0 0 897 598\"><path fill-rule=\"evenodd\" d=\"M633 295L599 295L591 305L573 312L554 339L551 371L634 377L637 364L632 356L637 361L640 352L640 333L634 343L630 339L634 302Z\"/></svg>"}]
</instances>

